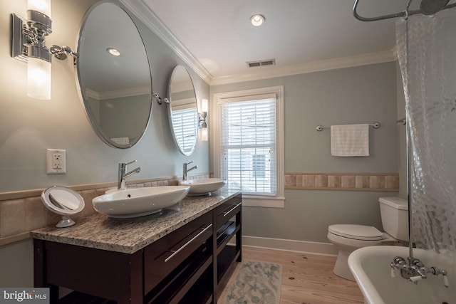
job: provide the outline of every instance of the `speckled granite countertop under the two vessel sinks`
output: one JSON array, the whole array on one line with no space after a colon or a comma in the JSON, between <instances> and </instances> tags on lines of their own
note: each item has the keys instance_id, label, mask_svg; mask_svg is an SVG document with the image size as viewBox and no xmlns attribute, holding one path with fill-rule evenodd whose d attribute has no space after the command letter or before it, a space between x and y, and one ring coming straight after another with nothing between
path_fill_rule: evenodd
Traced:
<instances>
[{"instance_id":1,"label":"speckled granite countertop under the two vessel sinks","mask_svg":"<svg viewBox=\"0 0 456 304\"><path fill-rule=\"evenodd\" d=\"M33 239L45 241L135 253L237 194L240 192L217 192L212 196L186 196L180 201L180 211L163 209L160 214L133 219L113 219L104 214L93 214L79 219L74 226L67 228L48 226L31 231L31 236Z\"/></svg>"}]
</instances>

